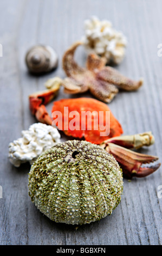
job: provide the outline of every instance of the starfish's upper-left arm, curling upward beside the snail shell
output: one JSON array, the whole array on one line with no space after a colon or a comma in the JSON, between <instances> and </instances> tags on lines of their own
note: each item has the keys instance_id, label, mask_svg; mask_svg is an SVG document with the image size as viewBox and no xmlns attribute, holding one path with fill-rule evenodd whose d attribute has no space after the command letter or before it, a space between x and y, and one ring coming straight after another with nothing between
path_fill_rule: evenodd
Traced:
<instances>
[{"instance_id":1,"label":"starfish's upper-left arm, curling upward beside the snail shell","mask_svg":"<svg viewBox=\"0 0 162 256\"><path fill-rule=\"evenodd\" d=\"M65 53L62 59L62 67L66 75L69 77L75 77L75 75L83 74L85 69L81 68L81 66L77 65L74 60L74 53L76 48L82 45L82 42L75 42Z\"/></svg>"}]
</instances>

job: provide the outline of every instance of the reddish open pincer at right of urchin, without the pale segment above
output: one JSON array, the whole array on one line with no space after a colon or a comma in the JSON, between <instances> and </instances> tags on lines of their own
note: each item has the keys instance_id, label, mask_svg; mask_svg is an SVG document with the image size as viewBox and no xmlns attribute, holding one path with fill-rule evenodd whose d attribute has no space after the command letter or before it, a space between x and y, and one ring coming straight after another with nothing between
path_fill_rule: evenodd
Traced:
<instances>
[{"instance_id":1,"label":"reddish open pincer at right of urchin, without the pale segment above","mask_svg":"<svg viewBox=\"0 0 162 256\"><path fill-rule=\"evenodd\" d=\"M160 163L155 164L155 166L141 167L144 163L158 160L157 156L140 154L113 143L107 143L106 151L115 157L122 168L125 178L128 179L133 178L133 176L138 178L145 177L160 167Z\"/></svg>"}]
</instances>

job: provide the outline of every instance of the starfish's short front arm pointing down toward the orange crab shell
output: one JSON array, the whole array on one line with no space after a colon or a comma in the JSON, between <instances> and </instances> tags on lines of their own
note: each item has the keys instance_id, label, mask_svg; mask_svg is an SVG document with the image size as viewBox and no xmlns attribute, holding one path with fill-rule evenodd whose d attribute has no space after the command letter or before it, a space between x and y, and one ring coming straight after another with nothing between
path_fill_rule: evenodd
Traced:
<instances>
[{"instance_id":1,"label":"starfish's short front arm pointing down toward the orange crab shell","mask_svg":"<svg viewBox=\"0 0 162 256\"><path fill-rule=\"evenodd\" d=\"M106 103L111 102L118 93L118 89L113 84L103 80L93 80L89 90L97 99Z\"/></svg>"}]
</instances>

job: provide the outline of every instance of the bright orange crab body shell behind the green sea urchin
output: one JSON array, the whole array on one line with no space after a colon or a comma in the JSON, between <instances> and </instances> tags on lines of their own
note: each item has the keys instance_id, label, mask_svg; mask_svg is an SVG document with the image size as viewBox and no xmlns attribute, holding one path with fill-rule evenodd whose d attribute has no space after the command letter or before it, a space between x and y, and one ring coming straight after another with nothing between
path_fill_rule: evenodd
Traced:
<instances>
[{"instance_id":1,"label":"bright orange crab body shell behind the green sea urchin","mask_svg":"<svg viewBox=\"0 0 162 256\"><path fill-rule=\"evenodd\" d=\"M64 107L68 107L68 112L64 112ZM61 112L62 115L57 115L57 117L53 117L54 123L57 126L59 130L62 130L67 136L73 136L76 138L82 138L84 137L86 141L100 144L103 141L105 141L108 138L120 136L123 133L122 127L118 120L115 119L114 115L108 108L108 106L98 100L87 98L87 97L80 97L78 99L62 99L59 101L54 102L54 106L52 108L52 113L55 111ZM77 111L77 115L75 115L75 127L77 129L70 129L69 123L74 119L74 116L69 117L69 113L72 111ZM90 111L91 113L93 111L103 112L103 125L106 125L106 111L110 112L110 132L108 136L100 136L101 132L104 132L100 129L99 126L99 118L98 118L98 129L94 130L94 119L95 117L92 115L92 124L90 127L87 127L89 125L89 122L86 120L85 127L86 129L82 129L82 111ZM55 112L56 113L56 112ZM99 116L99 115L98 115ZM62 119L62 120L61 120ZM96 129L96 128L95 128Z\"/></svg>"}]
</instances>

